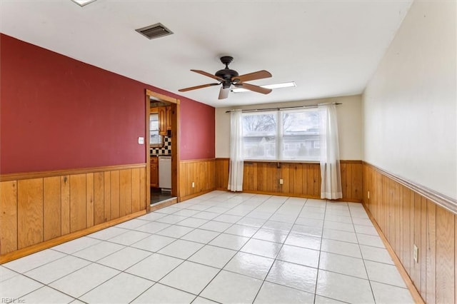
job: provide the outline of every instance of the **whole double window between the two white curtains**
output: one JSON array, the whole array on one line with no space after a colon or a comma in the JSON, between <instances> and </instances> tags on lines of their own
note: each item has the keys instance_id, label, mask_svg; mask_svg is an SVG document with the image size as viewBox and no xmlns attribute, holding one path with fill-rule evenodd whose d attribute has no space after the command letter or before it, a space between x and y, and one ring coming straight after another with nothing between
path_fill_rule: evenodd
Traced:
<instances>
[{"instance_id":1,"label":"whole double window between the two white curtains","mask_svg":"<svg viewBox=\"0 0 457 304\"><path fill-rule=\"evenodd\" d=\"M243 157L318 161L319 116L315 108L243 113Z\"/></svg>"}]
</instances>

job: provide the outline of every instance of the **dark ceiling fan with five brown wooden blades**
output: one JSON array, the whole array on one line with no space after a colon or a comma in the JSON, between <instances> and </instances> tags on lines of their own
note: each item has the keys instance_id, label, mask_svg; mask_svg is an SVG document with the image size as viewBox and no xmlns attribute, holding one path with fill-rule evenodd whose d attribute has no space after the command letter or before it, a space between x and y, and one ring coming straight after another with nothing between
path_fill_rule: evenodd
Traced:
<instances>
[{"instance_id":1,"label":"dark ceiling fan with five brown wooden blades","mask_svg":"<svg viewBox=\"0 0 457 304\"><path fill-rule=\"evenodd\" d=\"M238 75L237 71L229 69L229 64L233 61L233 57L231 56L222 56L221 62L222 64L226 65L225 69L219 70L216 74L209 74L205 71L201 70L191 70L198 74L211 77L219 81L219 83L206 83L202 84L201 86L191 86L190 88L181 88L180 92L186 92L191 90L196 90L197 88L206 88L208 86L219 86L222 84L221 91L219 91L219 99L224 99L229 96L229 91L231 86L236 86L237 88L246 88L246 90L254 91L257 93L268 94L271 92L271 88L262 88L261 86L254 86L253 84L244 83L244 81L251 81L256 79L268 78L271 77L270 72L262 70L256 71L249 74Z\"/></svg>"}]
</instances>

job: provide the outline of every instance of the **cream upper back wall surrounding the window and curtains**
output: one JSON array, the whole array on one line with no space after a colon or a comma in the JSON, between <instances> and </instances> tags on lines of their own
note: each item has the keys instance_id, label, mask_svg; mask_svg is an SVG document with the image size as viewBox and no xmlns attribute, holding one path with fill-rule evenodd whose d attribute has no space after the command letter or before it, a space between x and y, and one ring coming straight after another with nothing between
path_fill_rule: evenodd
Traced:
<instances>
[{"instance_id":1,"label":"cream upper back wall surrounding the window and curtains","mask_svg":"<svg viewBox=\"0 0 457 304\"><path fill-rule=\"evenodd\" d=\"M283 88L286 90L287 88ZM292 88L293 89L293 88ZM317 103L338 102L343 103L337 108L338 136L340 155L343 160L362 159L362 133L361 133L361 96L345 96L337 98L316 99L309 101L293 101L286 103L266 103L253 106L238 106L235 108L278 108L286 106L315 105ZM216 108L216 158L230 156L230 113L231 108Z\"/></svg>"}]
</instances>

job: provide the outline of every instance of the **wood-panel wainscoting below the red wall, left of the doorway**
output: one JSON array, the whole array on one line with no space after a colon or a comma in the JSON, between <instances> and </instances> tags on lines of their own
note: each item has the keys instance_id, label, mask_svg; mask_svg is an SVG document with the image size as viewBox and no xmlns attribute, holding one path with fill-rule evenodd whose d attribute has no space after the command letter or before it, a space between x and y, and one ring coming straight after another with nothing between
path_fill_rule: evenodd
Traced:
<instances>
[{"instance_id":1,"label":"wood-panel wainscoting below the red wall, left of the doorway","mask_svg":"<svg viewBox=\"0 0 457 304\"><path fill-rule=\"evenodd\" d=\"M129 218L145 210L146 165L143 163L2 175L0 254Z\"/></svg>"}]
</instances>

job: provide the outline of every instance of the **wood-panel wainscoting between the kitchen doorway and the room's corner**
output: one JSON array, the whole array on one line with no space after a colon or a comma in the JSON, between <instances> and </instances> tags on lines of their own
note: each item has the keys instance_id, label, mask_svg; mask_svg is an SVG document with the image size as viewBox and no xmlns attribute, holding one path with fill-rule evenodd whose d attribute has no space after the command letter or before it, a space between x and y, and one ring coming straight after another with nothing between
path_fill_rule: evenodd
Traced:
<instances>
[{"instance_id":1,"label":"wood-panel wainscoting between the kitchen doorway and the room's corner","mask_svg":"<svg viewBox=\"0 0 457 304\"><path fill-rule=\"evenodd\" d=\"M215 168L214 158L180 161L178 201L186 201L215 190ZM194 187L192 187L192 183L194 183Z\"/></svg>"}]
</instances>

